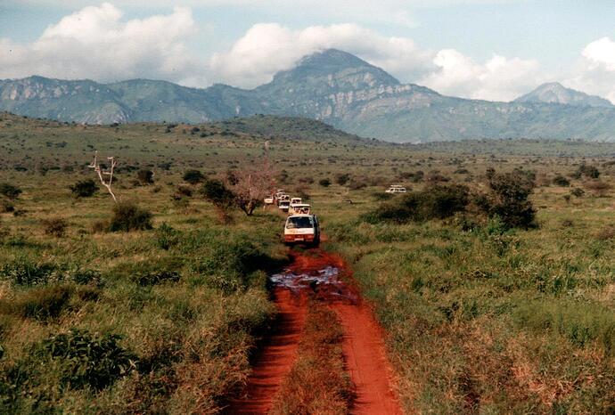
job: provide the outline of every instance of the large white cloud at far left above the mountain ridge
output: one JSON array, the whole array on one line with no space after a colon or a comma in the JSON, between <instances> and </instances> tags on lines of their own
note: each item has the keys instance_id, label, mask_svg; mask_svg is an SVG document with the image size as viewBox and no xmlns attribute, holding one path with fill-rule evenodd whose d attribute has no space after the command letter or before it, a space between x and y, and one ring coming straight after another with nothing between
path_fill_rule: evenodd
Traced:
<instances>
[{"instance_id":1,"label":"large white cloud at far left above the mountain ridge","mask_svg":"<svg viewBox=\"0 0 615 415\"><path fill-rule=\"evenodd\" d=\"M195 30L192 13L186 8L123 21L122 12L112 4L87 6L46 28L33 43L19 45L0 39L0 78L36 74L101 81L152 77L202 83L202 79L194 79L200 63L184 45Z\"/></svg>"}]
</instances>

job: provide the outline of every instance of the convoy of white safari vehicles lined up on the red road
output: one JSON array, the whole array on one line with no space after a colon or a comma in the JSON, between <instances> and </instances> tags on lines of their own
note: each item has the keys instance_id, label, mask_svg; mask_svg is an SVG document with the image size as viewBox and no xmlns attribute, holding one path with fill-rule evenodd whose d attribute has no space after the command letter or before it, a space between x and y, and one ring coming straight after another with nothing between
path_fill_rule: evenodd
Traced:
<instances>
[{"instance_id":1,"label":"convoy of white safari vehicles lined up on the red road","mask_svg":"<svg viewBox=\"0 0 615 415\"><path fill-rule=\"evenodd\" d=\"M284 243L286 245L303 244L318 247L320 244L320 224L318 217L312 214L312 207L303 203L301 198L278 189L275 195L265 199L266 205L276 205L282 212L288 213L284 224Z\"/></svg>"}]
</instances>

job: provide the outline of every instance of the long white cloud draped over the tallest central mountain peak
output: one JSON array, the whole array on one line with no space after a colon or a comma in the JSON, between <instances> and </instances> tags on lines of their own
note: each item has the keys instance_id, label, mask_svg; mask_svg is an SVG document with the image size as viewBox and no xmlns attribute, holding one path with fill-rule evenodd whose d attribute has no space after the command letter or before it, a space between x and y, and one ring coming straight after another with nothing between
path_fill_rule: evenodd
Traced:
<instances>
[{"instance_id":1,"label":"long white cloud draped over the tallest central mountain peak","mask_svg":"<svg viewBox=\"0 0 615 415\"><path fill-rule=\"evenodd\" d=\"M267 23L254 25L228 52L215 53L212 74L233 85L256 86L270 81L275 72L290 69L301 57L328 48L355 53L403 80L431 66L430 53L406 37L383 37L355 24L291 30Z\"/></svg>"}]
</instances>

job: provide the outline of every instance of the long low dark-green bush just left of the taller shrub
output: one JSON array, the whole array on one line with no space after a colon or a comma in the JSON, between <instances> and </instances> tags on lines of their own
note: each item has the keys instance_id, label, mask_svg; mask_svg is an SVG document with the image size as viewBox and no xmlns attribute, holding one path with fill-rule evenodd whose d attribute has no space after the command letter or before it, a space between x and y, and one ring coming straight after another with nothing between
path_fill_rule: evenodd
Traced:
<instances>
[{"instance_id":1,"label":"long low dark-green bush just left of the taller shrub","mask_svg":"<svg viewBox=\"0 0 615 415\"><path fill-rule=\"evenodd\" d=\"M469 189L461 184L434 185L424 191L406 193L389 200L363 216L369 223L444 219L463 212L469 203Z\"/></svg>"}]
</instances>

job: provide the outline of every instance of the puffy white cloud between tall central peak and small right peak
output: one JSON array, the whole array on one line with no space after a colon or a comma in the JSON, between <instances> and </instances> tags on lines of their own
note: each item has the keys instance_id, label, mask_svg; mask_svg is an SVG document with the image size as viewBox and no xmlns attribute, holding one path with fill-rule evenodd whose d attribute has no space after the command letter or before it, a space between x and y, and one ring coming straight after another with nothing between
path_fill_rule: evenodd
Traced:
<instances>
[{"instance_id":1,"label":"puffy white cloud between tall central peak and small right peak","mask_svg":"<svg viewBox=\"0 0 615 415\"><path fill-rule=\"evenodd\" d=\"M511 101L545 80L534 60L494 54L480 64L454 49L445 49L436 54L433 62L438 69L419 83L441 94L464 98Z\"/></svg>"}]
</instances>

